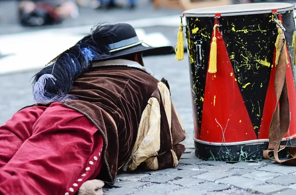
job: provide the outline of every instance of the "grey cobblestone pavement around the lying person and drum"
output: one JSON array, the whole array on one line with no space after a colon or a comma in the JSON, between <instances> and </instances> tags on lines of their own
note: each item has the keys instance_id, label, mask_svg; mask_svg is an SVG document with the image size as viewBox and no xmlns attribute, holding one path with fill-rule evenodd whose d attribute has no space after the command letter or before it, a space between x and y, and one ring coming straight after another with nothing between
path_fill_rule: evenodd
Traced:
<instances>
[{"instance_id":1,"label":"grey cobblestone pavement around the lying person and drum","mask_svg":"<svg viewBox=\"0 0 296 195\"><path fill-rule=\"evenodd\" d=\"M185 58L186 59L186 58ZM172 99L185 125L186 151L175 168L159 171L137 170L120 173L116 188L106 195L295 195L296 167L275 165L271 161L228 164L202 161L194 155L193 119L187 60L173 55L145 58L146 66L157 79L165 77ZM35 71L36 72L36 71ZM33 104L31 85L34 72L0 77L0 125L23 106Z\"/></svg>"}]
</instances>

